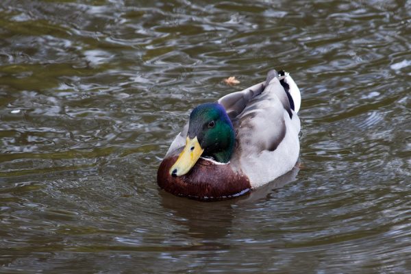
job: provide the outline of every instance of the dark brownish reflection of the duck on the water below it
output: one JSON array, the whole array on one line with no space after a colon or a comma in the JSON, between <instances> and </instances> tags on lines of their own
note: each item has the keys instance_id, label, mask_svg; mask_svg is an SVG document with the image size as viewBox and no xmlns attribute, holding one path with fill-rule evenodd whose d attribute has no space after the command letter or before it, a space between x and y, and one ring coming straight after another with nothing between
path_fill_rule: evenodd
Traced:
<instances>
[{"instance_id":1,"label":"dark brownish reflection of the duck on the water below it","mask_svg":"<svg viewBox=\"0 0 411 274\"><path fill-rule=\"evenodd\" d=\"M198 249L221 249L224 243L220 240L231 233L232 223L237 215L241 214L240 210L255 208L266 201L275 199L277 189L294 182L298 172L299 169L292 169L249 194L210 203L181 199L160 190L162 206L164 210L173 215L171 221L179 227L184 227L184 229L173 232L177 238L192 239L192 242L187 244L197 246Z\"/></svg>"}]
</instances>

